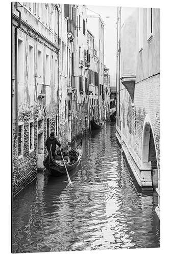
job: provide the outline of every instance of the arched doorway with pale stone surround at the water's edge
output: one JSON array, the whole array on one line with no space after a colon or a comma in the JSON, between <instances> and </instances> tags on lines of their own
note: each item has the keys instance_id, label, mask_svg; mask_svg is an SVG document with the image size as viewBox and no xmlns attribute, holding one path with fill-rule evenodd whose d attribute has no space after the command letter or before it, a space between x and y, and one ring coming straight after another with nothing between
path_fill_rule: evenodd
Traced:
<instances>
[{"instance_id":1,"label":"arched doorway with pale stone surround at the water's edge","mask_svg":"<svg viewBox=\"0 0 170 256\"><path fill-rule=\"evenodd\" d=\"M142 161L143 163L151 163L152 186L155 189L158 187L158 165L154 135L149 122L145 123L143 130Z\"/></svg>"}]
</instances>

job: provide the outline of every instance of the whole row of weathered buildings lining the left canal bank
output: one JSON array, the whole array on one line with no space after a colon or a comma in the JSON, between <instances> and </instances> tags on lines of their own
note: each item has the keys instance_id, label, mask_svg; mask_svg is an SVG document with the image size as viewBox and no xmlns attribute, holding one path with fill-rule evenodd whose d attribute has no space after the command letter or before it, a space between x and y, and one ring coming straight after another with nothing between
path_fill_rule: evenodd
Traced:
<instances>
[{"instance_id":1,"label":"whole row of weathered buildings lining the left canal bank","mask_svg":"<svg viewBox=\"0 0 170 256\"><path fill-rule=\"evenodd\" d=\"M43 168L52 131L68 148L102 118L103 37L87 31L83 5L12 3L14 196Z\"/></svg>"}]
</instances>

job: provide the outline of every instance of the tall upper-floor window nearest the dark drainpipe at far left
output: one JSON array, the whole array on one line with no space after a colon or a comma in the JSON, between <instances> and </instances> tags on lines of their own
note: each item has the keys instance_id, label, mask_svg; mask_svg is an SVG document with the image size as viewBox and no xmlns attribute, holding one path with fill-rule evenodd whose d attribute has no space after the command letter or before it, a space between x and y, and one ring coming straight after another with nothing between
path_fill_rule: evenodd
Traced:
<instances>
[{"instance_id":1,"label":"tall upper-floor window nearest the dark drainpipe at far left","mask_svg":"<svg viewBox=\"0 0 170 256\"><path fill-rule=\"evenodd\" d=\"M23 41L18 39L18 82L22 83L24 78L23 71Z\"/></svg>"}]
</instances>

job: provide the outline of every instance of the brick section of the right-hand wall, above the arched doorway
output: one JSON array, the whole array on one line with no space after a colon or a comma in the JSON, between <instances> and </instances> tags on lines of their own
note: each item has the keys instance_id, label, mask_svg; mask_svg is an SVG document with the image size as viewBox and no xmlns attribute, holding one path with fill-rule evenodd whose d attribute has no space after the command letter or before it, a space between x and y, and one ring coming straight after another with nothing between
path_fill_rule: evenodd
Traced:
<instances>
[{"instance_id":1,"label":"brick section of the right-hand wall, above the arched doorway","mask_svg":"<svg viewBox=\"0 0 170 256\"><path fill-rule=\"evenodd\" d=\"M160 117L159 117L159 74L135 84L134 107L128 91L122 86L120 102L122 103L122 133L134 154L142 159L142 134L144 119L151 120L155 140L158 168L160 165Z\"/></svg>"}]
</instances>

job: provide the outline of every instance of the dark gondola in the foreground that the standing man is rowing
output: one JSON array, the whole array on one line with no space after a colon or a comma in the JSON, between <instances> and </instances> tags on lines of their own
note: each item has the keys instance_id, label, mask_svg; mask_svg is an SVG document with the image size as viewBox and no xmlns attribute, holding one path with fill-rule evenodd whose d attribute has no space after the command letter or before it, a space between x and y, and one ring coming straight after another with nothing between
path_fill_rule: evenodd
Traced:
<instances>
[{"instance_id":1,"label":"dark gondola in the foreground that the standing man is rowing","mask_svg":"<svg viewBox=\"0 0 170 256\"><path fill-rule=\"evenodd\" d=\"M70 160L71 157L69 157L69 156L71 156L72 153L77 156L76 161ZM67 161L67 163L65 163L68 172L70 172L72 169L75 169L79 165L81 157L82 157L82 139L77 146L72 148L72 150L68 151L68 159L70 162ZM58 177L58 176L62 176L64 174L66 174L66 169L65 169L63 161L62 160L57 160L57 161L54 160L51 150L50 150L49 154L47 155L46 159L43 161L43 165L48 170L48 174L51 176Z\"/></svg>"}]
</instances>

